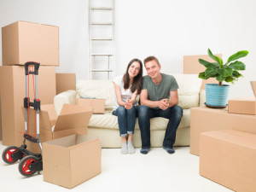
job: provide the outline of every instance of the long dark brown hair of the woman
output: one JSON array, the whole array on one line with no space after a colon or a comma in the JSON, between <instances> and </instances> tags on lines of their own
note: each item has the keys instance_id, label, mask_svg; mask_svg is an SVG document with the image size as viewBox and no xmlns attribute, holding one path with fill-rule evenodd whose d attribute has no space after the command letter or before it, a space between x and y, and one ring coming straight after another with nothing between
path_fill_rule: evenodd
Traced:
<instances>
[{"instance_id":1,"label":"long dark brown hair of the woman","mask_svg":"<svg viewBox=\"0 0 256 192\"><path fill-rule=\"evenodd\" d=\"M133 79L133 82L131 84L131 93L134 93L137 90L137 94L139 95L141 93L141 90L143 89L143 62L142 61L140 61L139 59L133 59L129 62L126 68L125 75L123 77L123 81L124 81L125 90L129 89L130 77L129 77L128 70L131 64L136 61L140 64L140 72L137 73L137 76L134 77Z\"/></svg>"}]
</instances>

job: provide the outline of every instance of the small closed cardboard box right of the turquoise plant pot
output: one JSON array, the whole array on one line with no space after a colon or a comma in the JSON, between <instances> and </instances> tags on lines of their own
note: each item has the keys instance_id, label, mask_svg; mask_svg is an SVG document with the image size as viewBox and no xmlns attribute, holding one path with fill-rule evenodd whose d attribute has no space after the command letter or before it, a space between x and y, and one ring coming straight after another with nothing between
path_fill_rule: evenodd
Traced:
<instances>
[{"instance_id":1,"label":"small closed cardboard box right of the turquoise plant pot","mask_svg":"<svg viewBox=\"0 0 256 192\"><path fill-rule=\"evenodd\" d=\"M229 100L229 113L256 114L255 97L240 97Z\"/></svg>"}]
</instances>

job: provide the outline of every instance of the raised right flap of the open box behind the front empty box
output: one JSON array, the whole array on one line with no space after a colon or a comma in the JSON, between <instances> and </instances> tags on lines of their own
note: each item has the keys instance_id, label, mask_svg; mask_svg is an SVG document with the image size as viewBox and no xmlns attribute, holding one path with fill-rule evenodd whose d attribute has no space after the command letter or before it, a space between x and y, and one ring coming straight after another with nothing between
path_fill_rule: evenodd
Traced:
<instances>
[{"instance_id":1,"label":"raised right flap of the open box behind the front empty box","mask_svg":"<svg viewBox=\"0 0 256 192\"><path fill-rule=\"evenodd\" d=\"M65 104L61 110L54 131L84 128L89 124L92 110L86 111L77 105Z\"/></svg>"}]
</instances>

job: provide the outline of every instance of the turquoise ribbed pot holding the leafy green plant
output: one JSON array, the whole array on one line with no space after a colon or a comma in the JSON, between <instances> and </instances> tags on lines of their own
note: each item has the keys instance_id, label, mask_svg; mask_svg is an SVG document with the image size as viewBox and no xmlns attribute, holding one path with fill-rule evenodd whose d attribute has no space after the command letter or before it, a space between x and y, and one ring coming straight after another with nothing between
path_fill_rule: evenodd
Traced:
<instances>
[{"instance_id":1,"label":"turquoise ribbed pot holding the leafy green plant","mask_svg":"<svg viewBox=\"0 0 256 192\"><path fill-rule=\"evenodd\" d=\"M226 107L230 92L230 85L206 84L207 106L208 107Z\"/></svg>"}]
</instances>

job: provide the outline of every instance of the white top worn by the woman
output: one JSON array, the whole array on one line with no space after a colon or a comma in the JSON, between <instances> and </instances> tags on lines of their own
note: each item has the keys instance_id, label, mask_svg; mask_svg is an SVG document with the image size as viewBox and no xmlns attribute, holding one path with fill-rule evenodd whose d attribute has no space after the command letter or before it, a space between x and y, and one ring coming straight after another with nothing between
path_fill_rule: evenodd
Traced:
<instances>
[{"instance_id":1,"label":"white top worn by the woman","mask_svg":"<svg viewBox=\"0 0 256 192\"><path fill-rule=\"evenodd\" d=\"M125 90L124 89L124 82L123 82L123 76L118 76L116 77L113 82L117 84L121 90L121 99L123 102L126 102L126 99L131 99L132 93L131 93L131 87L129 89ZM134 106L137 106L137 100L133 104ZM116 110L119 107L119 103L117 101L117 97L115 96L114 98L114 105L113 105L113 110Z\"/></svg>"}]
</instances>

